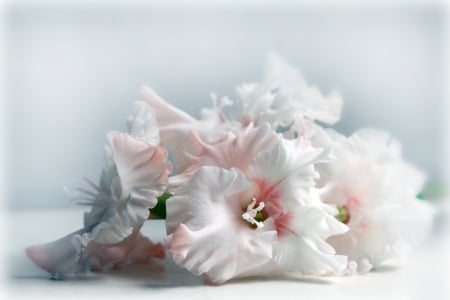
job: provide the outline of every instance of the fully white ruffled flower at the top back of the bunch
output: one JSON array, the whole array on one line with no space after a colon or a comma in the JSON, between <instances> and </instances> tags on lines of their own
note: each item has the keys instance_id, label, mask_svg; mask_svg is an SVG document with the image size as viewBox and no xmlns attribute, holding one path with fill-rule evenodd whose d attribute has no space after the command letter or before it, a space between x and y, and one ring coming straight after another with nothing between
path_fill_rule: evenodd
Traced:
<instances>
[{"instance_id":1,"label":"fully white ruffled flower at the top back of the bunch","mask_svg":"<svg viewBox=\"0 0 450 300\"><path fill-rule=\"evenodd\" d=\"M229 107L224 108L229 120L244 127L250 123L269 124L279 131L289 129L299 119L334 124L342 110L342 99L336 91L323 95L276 55L269 57L262 83L242 84L236 99L224 99L229 102Z\"/></svg>"}]
</instances>

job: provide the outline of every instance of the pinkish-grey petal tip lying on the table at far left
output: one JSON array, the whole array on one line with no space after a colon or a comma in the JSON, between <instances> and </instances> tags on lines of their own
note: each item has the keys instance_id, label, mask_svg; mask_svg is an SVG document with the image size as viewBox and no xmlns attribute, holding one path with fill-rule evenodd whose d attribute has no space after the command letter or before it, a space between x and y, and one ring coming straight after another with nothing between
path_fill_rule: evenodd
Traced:
<instances>
[{"instance_id":1,"label":"pinkish-grey petal tip lying on the table at far left","mask_svg":"<svg viewBox=\"0 0 450 300\"><path fill-rule=\"evenodd\" d=\"M73 232L56 241L28 247L25 251L31 261L58 278L79 269L80 249L72 244L72 238L83 234L84 229Z\"/></svg>"}]
</instances>

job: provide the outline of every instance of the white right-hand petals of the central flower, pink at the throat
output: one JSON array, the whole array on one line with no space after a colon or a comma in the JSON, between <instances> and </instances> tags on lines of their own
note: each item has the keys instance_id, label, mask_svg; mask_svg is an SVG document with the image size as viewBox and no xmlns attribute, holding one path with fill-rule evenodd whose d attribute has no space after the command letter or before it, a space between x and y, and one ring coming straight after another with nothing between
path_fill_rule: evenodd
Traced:
<instances>
[{"instance_id":1,"label":"white right-hand petals of the central flower, pink at the throat","mask_svg":"<svg viewBox=\"0 0 450 300\"><path fill-rule=\"evenodd\" d=\"M314 165L323 161L323 150L303 139L283 140L259 153L250 164L255 197L277 229L274 260L284 271L304 274L339 274L347 267L345 256L336 256L326 243L347 226L317 203Z\"/></svg>"}]
</instances>

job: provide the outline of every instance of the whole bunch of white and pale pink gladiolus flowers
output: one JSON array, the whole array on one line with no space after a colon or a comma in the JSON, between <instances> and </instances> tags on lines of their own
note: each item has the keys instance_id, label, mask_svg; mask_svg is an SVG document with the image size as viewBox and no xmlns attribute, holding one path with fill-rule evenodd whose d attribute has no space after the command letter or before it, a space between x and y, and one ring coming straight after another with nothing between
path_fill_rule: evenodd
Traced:
<instances>
[{"instance_id":1,"label":"whole bunch of white and pale pink gladiolus flowers","mask_svg":"<svg viewBox=\"0 0 450 300\"><path fill-rule=\"evenodd\" d=\"M195 119L143 88L128 131L107 135L99 183L72 194L91 207L84 227L29 247L30 259L54 278L166 252L212 283L353 275L429 233L433 211L416 198L425 176L399 143L323 127L340 118L337 92L323 95L272 55L261 83L212 99ZM149 218L166 220L164 245L140 233Z\"/></svg>"}]
</instances>

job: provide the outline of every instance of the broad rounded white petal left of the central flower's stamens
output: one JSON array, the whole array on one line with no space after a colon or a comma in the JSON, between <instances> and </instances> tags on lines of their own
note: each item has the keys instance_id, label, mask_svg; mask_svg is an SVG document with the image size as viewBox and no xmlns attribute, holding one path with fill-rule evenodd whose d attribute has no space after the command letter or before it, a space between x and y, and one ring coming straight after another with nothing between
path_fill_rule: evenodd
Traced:
<instances>
[{"instance_id":1,"label":"broad rounded white petal left of the central flower's stamens","mask_svg":"<svg viewBox=\"0 0 450 300\"><path fill-rule=\"evenodd\" d=\"M167 201L166 243L175 262L221 283L249 274L272 257L275 225L252 228L242 219L250 199L238 170L201 167ZM253 274L257 275L257 274Z\"/></svg>"}]
</instances>

